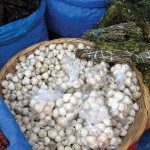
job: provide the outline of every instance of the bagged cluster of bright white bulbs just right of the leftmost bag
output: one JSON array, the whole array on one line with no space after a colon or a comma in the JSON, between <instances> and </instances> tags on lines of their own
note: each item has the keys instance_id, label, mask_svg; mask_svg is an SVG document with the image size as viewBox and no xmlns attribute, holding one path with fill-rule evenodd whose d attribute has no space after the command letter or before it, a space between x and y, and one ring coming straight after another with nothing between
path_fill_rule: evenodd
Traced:
<instances>
[{"instance_id":1,"label":"bagged cluster of bright white bulbs just right of the leftmost bag","mask_svg":"<svg viewBox=\"0 0 150 150\"><path fill-rule=\"evenodd\" d=\"M82 103L82 93L65 93L62 99L57 99L56 107L53 110L53 118L57 124L67 127L71 120L79 114L79 106Z\"/></svg>"}]
</instances>

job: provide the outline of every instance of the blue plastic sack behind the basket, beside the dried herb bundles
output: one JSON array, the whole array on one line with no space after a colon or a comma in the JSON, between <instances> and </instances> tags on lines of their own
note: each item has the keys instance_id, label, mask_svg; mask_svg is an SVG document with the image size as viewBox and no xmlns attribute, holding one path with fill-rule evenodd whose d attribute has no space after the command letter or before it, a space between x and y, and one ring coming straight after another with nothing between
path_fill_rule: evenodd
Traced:
<instances>
[{"instance_id":1,"label":"blue plastic sack behind the basket, beside the dried herb bundles","mask_svg":"<svg viewBox=\"0 0 150 150\"><path fill-rule=\"evenodd\" d=\"M49 30L63 37L79 38L106 13L110 0L46 0ZM97 7L96 7L97 6Z\"/></svg>"}]
</instances>

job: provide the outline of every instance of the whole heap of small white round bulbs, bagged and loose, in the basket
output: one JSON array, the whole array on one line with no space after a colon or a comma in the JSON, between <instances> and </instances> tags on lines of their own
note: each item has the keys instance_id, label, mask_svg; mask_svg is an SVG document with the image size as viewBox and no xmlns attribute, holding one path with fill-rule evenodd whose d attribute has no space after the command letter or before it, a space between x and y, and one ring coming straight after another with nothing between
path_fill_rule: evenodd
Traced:
<instances>
[{"instance_id":1,"label":"whole heap of small white round bulbs, bagged and loose, in the basket","mask_svg":"<svg viewBox=\"0 0 150 150\"><path fill-rule=\"evenodd\" d=\"M139 110L136 74L126 64L75 57L76 49L89 48L40 46L2 81L5 102L33 150L113 149L127 135ZM41 96L43 84L48 95Z\"/></svg>"}]
</instances>

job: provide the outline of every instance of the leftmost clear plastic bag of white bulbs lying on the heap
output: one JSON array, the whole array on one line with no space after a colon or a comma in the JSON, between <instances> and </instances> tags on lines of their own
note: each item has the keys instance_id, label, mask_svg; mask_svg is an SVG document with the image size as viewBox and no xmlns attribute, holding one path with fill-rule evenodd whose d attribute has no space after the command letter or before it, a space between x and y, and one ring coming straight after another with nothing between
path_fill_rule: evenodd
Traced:
<instances>
[{"instance_id":1,"label":"leftmost clear plastic bag of white bulbs lying on the heap","mask_svg":"<svg viewBox=\"0 0 150 150\"><path fill-rule=\"evenodd\" d=\"M45 89L46 88L46 89ZM30 108L34 114L34 119L45 119L47 124L51 121L55 100L62 94L58 91L48 90L46 85L42 86L30 100Z\"/></svg>"}]
</instances>

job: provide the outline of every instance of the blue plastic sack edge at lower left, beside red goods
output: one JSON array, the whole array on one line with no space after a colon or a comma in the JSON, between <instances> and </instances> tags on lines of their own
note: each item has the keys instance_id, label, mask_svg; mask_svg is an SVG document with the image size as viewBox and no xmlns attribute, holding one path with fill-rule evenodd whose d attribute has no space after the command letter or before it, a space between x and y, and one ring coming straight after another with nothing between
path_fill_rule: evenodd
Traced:
<instances>
[{"instance_id":1,"label":"blue plastic sack edge at lower left, beside red goods","mask_svg":"<svg viewBox=\"0 0 150 150\"><path fill-rule=\"evenodd\" d=\"M7 150L32 150L2 99L0 99L0 129L10 143Z\"/></svg>"}]
</instances>

